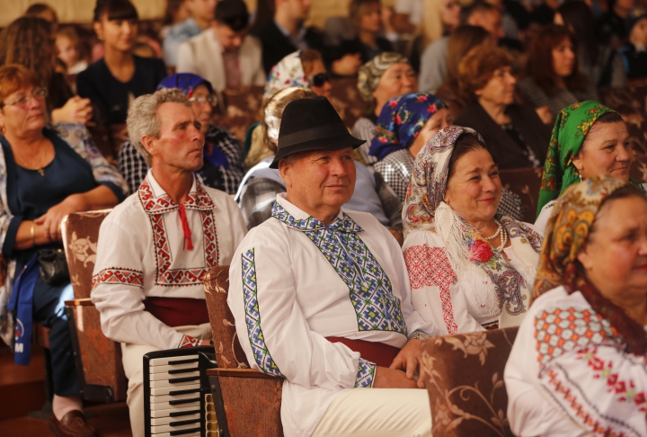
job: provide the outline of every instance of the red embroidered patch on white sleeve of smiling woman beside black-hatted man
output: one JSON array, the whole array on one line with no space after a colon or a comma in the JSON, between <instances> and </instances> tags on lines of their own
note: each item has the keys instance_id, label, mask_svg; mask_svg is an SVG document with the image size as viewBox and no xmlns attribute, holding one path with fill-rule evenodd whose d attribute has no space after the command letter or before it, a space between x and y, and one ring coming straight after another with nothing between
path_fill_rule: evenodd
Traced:
<instances>
[{"instance_id":1,"label":"red embroidered patch on white sleeve of smiling woman beside black-hatted man","mask_svg":"<svg viewBox=\"0 0 647 437\"><path fill-rule=\"evenodd\" d=\"M458 326L454 319L449 286L456 282L456 273L451 268L447 252L442 247L412 245L404 251L404 262L409 272L412 289L436 286L440 289L443 319L448 334L456 334Z\"/></svg>"}]
</instances>

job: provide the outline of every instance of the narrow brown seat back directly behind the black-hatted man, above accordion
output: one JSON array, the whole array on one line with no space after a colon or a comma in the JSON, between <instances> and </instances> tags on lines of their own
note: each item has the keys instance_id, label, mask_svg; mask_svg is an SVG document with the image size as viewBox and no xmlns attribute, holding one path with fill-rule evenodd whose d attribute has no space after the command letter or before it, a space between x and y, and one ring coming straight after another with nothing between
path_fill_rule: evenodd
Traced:
<instances>
[{"instance_id":1,"label":"narrow brown seat back directly behind the black-hatted man, above accordion","mask_svg":"<svg viewBox=\"0 0 647 437\"><path fill-rule=\"evenodd\" d=\"M229 291L229 266L217 265L204 277L205 297L218 367L247 369L249 363L235 332L234 315L226 303Z\"/></svg>"}]
</instances>

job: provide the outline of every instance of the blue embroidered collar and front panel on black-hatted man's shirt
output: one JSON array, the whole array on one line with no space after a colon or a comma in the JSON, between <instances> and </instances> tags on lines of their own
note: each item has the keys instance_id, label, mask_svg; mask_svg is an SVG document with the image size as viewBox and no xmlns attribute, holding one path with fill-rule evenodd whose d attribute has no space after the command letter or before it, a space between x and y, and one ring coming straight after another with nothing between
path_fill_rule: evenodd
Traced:
<instances>
[{"instance_id":1,"label":"blue embroidered collar and front panel on black-hatted man's shirt","mask_svg":"<svg viewBox=\"0 0 647 437\"><path fill-rule=\"evenodd\" d=\"M345 213L328 226L316 218L299 220L274 203L272 217L301 230L317 246L350 290L359 331L394 331L406 335L400 299L377 259L359 238L363 232Z\"/></svg>"}]
</instances>

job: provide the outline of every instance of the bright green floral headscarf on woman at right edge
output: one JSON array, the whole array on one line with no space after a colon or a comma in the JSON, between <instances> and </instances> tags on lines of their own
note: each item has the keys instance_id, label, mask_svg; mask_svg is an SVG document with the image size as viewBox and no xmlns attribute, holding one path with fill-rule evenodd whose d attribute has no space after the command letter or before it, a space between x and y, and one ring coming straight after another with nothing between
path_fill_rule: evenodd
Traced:
<instances>
[{"instance_id":1,"label":"bright green floral headscarf on woman at right edge","mask_svg":"<svg viewBox=\"0 0 647 437\"><path fill-rule=\"evenodd\" d=\"M545 160L537 215L546 203L554 201L573 183L581 181L572 160L580 153L582 143L595 122L610 112L616 111L602 103L588 101L564 108L557 115ZM640 186L635 181L632 183Z\"/></svg>"}]
</instances>

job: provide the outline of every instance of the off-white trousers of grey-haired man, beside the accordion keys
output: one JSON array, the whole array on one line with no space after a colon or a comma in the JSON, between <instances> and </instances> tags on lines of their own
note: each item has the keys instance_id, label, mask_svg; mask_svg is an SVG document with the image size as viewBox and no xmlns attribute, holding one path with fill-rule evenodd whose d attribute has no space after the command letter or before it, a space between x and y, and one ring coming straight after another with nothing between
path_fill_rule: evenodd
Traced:
<instances>
[{"instance_id":1,"label":"off-white trousers of grey-haired man, beside the accordion keys","mask_svg":"<svg viewBox=\"0 0 647 437\"><path fill-rule=\"evenodd\" d=\"M211 326L208 323L197 326L177 326L173 329L202 340L211 338ZM129 379L126 403L129 406L133 437L144 437L144 362L142 359L146 353L156 351L162 351L162 349L148 345L121 343L121 361L126 378Z\"/></svg>"}]
</instances>

